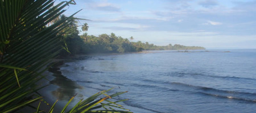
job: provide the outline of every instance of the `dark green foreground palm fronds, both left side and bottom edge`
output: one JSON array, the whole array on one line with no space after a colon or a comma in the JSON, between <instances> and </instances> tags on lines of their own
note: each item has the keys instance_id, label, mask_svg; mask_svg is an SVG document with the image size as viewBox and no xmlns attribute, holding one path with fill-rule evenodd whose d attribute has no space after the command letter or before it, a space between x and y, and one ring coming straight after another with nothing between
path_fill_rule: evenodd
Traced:
<instances>
[{"instance_id":1,"label":"dark green foreground palm fronds, both left side and bottom edge","mask_svg":"<svg viewBox=\"0 0 256 113\"><path fill-rule=\"evenodd\" d=\"M38 82L47 76L43 73L51 59L61 50L68 50L65 42L82 41L75 40L80 39L74 24L76 18L61 15L75 1L56 6L53 3L53 0L0 1L0 112L22 112L24 107L30 111L23 112L53 112L55 108L57 101L50 103L49 109L40 106L48 102L38 93L45 87ZM126 92L109 94L108 91L81 100L68 110L74 95L61 112L117 112L114 108L129 112L122 111L126 109L117 104L127 99L112 99ZM97 108L105 110L95 111Z\"/></svg>"}]
</instances>

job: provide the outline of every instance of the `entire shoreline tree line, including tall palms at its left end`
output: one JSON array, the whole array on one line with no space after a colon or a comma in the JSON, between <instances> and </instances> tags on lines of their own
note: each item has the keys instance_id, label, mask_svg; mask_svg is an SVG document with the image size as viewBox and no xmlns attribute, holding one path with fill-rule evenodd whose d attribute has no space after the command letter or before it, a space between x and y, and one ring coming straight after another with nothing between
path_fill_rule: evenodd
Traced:
<instances>
[{"instance_id":1,"label":"entire shoreline tree line, including tall palms at its left end","mask_svg":"<svg viewBox=\"0 0 256 113\"><path fill-rule=\"evenodd\" d=\"M65 15L61 15L61 17ZM70 51L69 55L75 54L94 54L94 53L129 53L138 52L143 50L200 50L205 49L200 46L183 46L179 44L169 44L167 46L157 46L143 43L142 41L133 42L134 37L123 38L117 36L114 33L100 34L99 36L88 35L88 24L82 25L82 31L84 32L79 36L79 29L77 28L77 21L73 20L73 24L67 29L67 33L63 34L66 38L67 49ZM68 55L66 51L61 52L61 56Z\"/></svg>"}]
</instances>

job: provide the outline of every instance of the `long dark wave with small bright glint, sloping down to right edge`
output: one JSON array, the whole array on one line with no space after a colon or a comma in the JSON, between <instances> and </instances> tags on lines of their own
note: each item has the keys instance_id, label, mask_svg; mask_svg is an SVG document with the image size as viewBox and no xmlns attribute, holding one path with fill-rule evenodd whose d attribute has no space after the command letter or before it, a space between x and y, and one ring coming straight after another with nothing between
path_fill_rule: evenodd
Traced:
<instances>
[{"instance_id":1,"label":"long dark wave with small bright glint, sloping down to right edge","mask_svg":"<svg viewBox=\"0 0 256 113\"><path fill-rule=\"evenodd\" d=\"M160 90L161 92L192 92L192 93L199 93L203 95L210 95L218 98L226 98L226 99L234 99L238 101L246 101L246 102L254 102L256 103L256 93L249 93L249 92L237 92L237 91L230 91L230 90L220 90L220 89L214 89L214 88L208 88L204 86L195 86L195 85L189 85L184 84L181 82L168 82L168 81L155 81L155 80L142 80L144 82L151 82L151 84L130 84L130 86L139 87L143 89L150 89L150 90ZM92 81L80 81L77 82L86 82L86 83L93 83ZM155 82L157 84L152 84L152 82ZM159 83L162 83L162 86L159 86ZM127 86L125 84L118 84L113 82L104 82L104 85L100 84L101 86L106 86L109 88L112 88L113 86ZM171 85L168 86L167 84ZM97 88L93 88L97 89Z\"/></svg>"}]
</instances>

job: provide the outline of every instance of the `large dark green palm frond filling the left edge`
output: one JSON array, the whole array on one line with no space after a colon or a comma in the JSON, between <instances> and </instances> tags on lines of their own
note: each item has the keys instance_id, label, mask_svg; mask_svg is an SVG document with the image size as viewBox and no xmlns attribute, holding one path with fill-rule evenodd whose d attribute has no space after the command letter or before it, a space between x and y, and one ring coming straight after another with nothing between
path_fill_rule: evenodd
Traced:
<instances>
[{"instance_id":1,"label":"large dark green palm frond filling the left edge","mask_svg":"<svg viewBox=\"0 0 256 113\"><path fill-rule=\"evenodd\" d=\"M63 14L63 8L71 2L61 2L49 10L53 0L0 1L0 97L4 97L0 112L14 111L37 100L29 98L40 89L36 85L43 78L40 70L60 52L64 44L60 31L73 15L46 25Z\"/></svg>"}]
</instances>

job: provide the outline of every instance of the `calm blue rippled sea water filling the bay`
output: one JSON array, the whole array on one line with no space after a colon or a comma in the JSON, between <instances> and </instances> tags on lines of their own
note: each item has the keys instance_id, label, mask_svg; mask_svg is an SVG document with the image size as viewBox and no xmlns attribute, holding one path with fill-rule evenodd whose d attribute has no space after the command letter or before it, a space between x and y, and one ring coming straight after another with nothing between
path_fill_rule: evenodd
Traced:
<instances>
[{"instance_id":1,"label":"calm blue rippled sea water filling the bay","mask_svg":"<svg viewBox=\"0 0 256 113\"><path fill-rule=\"evenodd\" d=\"M80 97L128 90L118 98L134 112L256 112L255 49L93 55L61 72Z\"/></svg>"}]
</instances>

